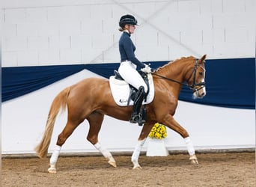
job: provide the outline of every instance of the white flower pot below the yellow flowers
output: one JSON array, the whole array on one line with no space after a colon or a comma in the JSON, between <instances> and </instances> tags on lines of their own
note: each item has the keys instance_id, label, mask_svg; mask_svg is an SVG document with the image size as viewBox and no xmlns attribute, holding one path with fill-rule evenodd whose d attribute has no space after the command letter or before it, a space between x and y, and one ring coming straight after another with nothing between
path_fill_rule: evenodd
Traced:
<instances>
[{"instance_id":1,"label":"white flower pot below the yellow flowers","mask_svg":"<svg viewBox=\"0 0 256 187\"><path fill-rule=\"evenodd\" d=\"M168 154L169 153L165 147L165 141L163 139L149 139L146 156L168 156Z\"/></svg>"}]
</instances>

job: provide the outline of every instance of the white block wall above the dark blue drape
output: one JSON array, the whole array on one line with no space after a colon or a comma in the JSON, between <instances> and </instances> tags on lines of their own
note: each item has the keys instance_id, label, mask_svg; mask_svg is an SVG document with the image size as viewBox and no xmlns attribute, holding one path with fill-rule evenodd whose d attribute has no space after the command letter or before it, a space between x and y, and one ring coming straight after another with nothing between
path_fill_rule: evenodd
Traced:
<instances>
[{"instance_id":1,"label":"white block wall above the dark blue drape","mask_svg":"<svg viewBox=\"0 0 256 187\"><path fill-rule=\"evenodd\" d=\"M177 54L198 56L201 50L204 50L204 46L207 46L205 51L209 52L210 44L212 44L214 51L218 52L216 56L215 52L210 52L208 58L252 57L255 54L252 52L252 48L255 47L255 44L252 44L252 41L255 41L255 27L251 19L255 13L252 7L255 7L255 1L252 0L139 2L54 0L37 2L37 6L34 1L29 0L23 1L23 4L8 1L8 3L5 2L2 12L4 18L3 52L29 54L25 51L31 50L30 37L48 37L49 49L76 50L72 52L73 59L69 56L69 64L78 61L75 56L78 53L84 59L82 52L94 49L96 49L93 52L94 55L86 58L87 63L114 62L117 59L116 55L111 58L111 54L114 53L108 54L108 52L112 51L110 48L118 43L119 34L121 34L118 31L118 21L121 15L132 13L140 24L135 34L132 35L137 49L151 46L152 50L159 51L162 46L165 46L174 51L180 51ZM76 40L78 37L82 40ZM200 38L204 45L200 43ZM191 43L195 44L191 46ZM243 50L232 53L233 48L222 51L222 46L231 46L229 43L236 45L243 43L243 47L247 49L246 53L243 53ZM43 46L34 45L33 50L37 50L37 53L42 55L46 50ZM178 48L174 49L175 46ZM158 47L160 49L156 49ZM159 55L161 55L159 58L162 58L162 53ZM171 58L169 60L174 60L172 57L177 55L170 55L166 52L165 56L169 56ZM107 58L104 59L104 57ZM146 61L147 58L144 57L138 56L138 59ZM16 58L18 59L16 65L20 66L19 56ZM157 58L156 55L154 59ZM59 61L55 63L63 64L61 59L59 58ZM34 58L34 65L41 62L39 58ZM43 61L43 64L46 62Z\"/></svg>"}]
</instances>

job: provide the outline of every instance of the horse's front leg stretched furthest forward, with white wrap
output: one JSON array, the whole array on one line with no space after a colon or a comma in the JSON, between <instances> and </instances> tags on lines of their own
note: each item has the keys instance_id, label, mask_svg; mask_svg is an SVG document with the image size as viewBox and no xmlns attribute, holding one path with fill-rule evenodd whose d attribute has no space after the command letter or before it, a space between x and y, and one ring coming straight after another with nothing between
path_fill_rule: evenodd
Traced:
<instances>
[{"instance_id":1,"label":"horse's front leg stretched furthest forward, with white wrap","mask_svg":"<svg viewBox=\"0 0 256 187\"><path fill-rule=\"evenodd\" d=\"M159 122L160 123L160 122ZM171 116L171 114L168 114L167 117L164 118L164 120L161 121L162 124L165 126L168 126L169 128L173 129L175 132L179 133L185 141L186 148L189 152L189 160L192 162L194 165L198 165L198 159L195 156L195 148L192 144L192 141L189 137L189 133L184 129L182 126L180 126L179 123L177 123L176 120Z\"/></svg>"}]
</instances>

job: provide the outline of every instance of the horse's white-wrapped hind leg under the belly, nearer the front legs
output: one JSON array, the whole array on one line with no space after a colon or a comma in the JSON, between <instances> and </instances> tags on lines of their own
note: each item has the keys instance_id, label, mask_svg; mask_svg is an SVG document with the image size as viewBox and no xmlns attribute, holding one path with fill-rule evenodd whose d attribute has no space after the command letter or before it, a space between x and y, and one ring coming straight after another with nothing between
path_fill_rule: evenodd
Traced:
<instances>
[{"instance_id":1,"label":"horse's white-wrapped hind leg under the belly, nearer the front legs","mask_svg":"<svg viewBox=\"0 0 256 187\"><path fill-rule=\"evenodd\" d=\"M101 114L97 111L94 111L87 117L87 120L90 124L90 129L88 132L87 139L88 141L91 142L91 144L94 145L94 147L97 150L100 151L100 153L103 154L103 156L106 159L109 159L109 165L112 165L116 168L117 165L115 163L115 159L113 158L112 154L109 152L109 150L106 150L98 141L98 134L100 132L101 125L103 123L103 118L104 118L104 114Z\"/></svg>"}]
</instances>

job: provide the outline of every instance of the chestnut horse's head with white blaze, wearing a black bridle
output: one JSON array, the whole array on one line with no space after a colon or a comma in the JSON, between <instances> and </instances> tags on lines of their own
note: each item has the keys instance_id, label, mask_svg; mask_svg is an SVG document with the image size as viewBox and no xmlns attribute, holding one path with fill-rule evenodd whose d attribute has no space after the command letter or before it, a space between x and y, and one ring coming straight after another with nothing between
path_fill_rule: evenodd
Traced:
<instances>
[{"instance_id":1,"label":"chestnut horse's head with white blaze, wearing a black bridle","mask_svg":"<svg viewBox=\"0 0 256 187\"><path fill-rule=\"evenodd\" d=\"M204 83L205 78L205 58L207 55L201 57L201 59L195 60L194 69L187 79L189 88L193 91L193 98L203 98L206 95L206 88Z\"/></svg>"}]
</instances>

